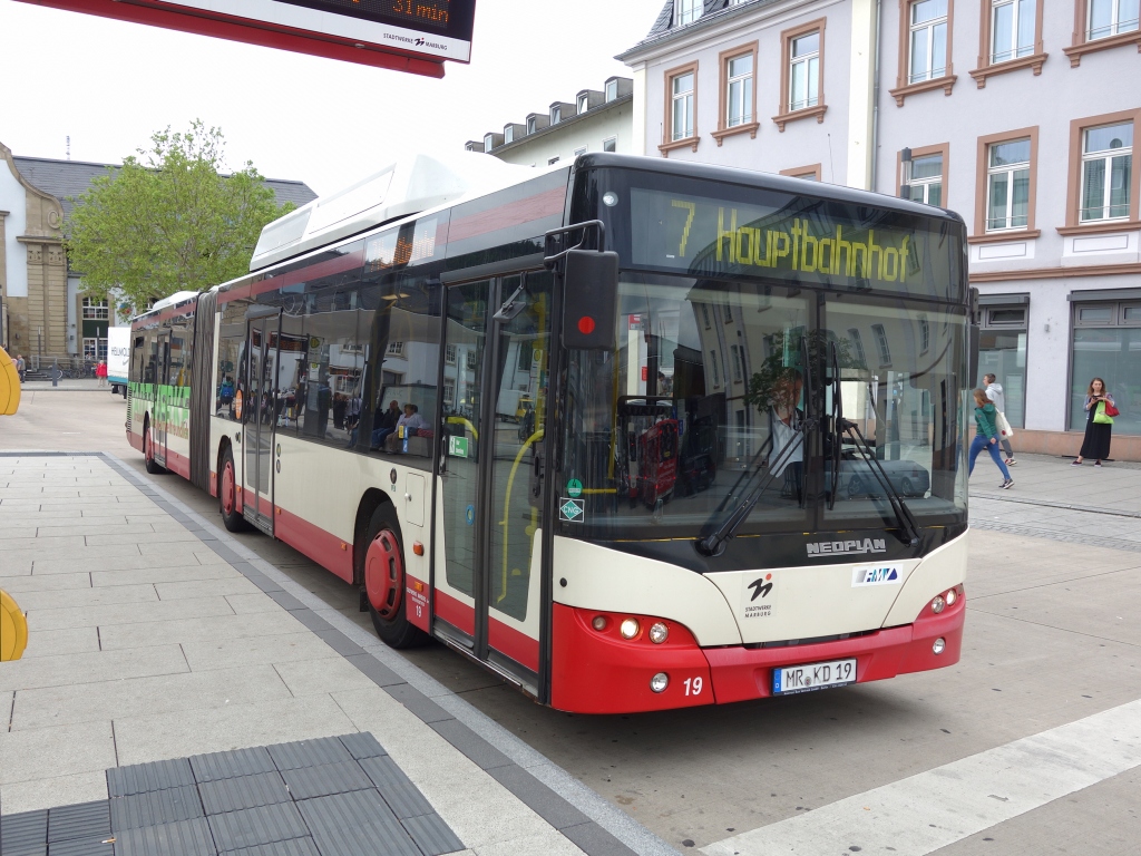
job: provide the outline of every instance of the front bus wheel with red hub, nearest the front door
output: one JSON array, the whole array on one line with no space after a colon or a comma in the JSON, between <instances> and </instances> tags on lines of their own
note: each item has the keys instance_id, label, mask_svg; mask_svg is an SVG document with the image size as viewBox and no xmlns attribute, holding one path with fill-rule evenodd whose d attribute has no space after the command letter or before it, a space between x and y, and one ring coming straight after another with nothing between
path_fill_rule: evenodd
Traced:
<instances>
[{"instance_id":1,"label":"front bus wheel with red hub, nearest the front door","mask_svg":"<svg viewBox=\"0 0 1141 856\"><path fill-rule=\"evenodd\" d=\"M408 621L404 596L404 544L400 524L389 506L372 512L365 538L364 588L377 636L393 648L411 648L428 641L428 635Z\"/></svg>"}]
</instances>

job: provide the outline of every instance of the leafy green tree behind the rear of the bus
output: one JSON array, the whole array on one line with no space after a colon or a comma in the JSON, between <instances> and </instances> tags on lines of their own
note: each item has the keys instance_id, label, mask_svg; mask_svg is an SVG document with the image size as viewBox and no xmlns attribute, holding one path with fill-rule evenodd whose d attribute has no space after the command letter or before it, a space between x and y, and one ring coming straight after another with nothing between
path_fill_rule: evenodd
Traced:
<instances>
[{"instance_id":1,"label":"leafy green tree behind the rear of the bus","mask_svg":"<svg viewBox=\"0 0 1141 856\"><path fill-rule=\"evenodd\" d=\"M261 227L293 209L249 161L225 175L221 130L168 127L120 168L91 181L65 225L71 266L94 299L116 292L120 314L176 291L203 291L249 270Z\"/></svg>"}]
</instances>

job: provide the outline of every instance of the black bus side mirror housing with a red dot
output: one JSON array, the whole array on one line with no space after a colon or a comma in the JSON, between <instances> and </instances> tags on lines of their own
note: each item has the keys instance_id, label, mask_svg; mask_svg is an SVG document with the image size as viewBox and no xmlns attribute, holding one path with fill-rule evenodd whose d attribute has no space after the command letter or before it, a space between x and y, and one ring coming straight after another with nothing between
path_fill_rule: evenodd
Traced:
<instances>
[{"instance_id":1,"label":"black bus side mirror housing with a red dot","mask_svg":"<svg viewBox=\"0 0 1141 856\"><path fill-rule=\"evenodd\" d=\"M568 250L563 294L563 344L580 350L613 350L618 253Z\"/></svg>"}]
</instances>

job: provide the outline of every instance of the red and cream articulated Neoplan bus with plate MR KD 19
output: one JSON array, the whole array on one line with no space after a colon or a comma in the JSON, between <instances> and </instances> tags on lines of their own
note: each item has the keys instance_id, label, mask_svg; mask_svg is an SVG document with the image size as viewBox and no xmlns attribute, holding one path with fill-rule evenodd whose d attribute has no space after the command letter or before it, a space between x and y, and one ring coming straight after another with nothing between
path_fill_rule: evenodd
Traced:
<instances>
[{"instance_id":1,"label":"red and cream articulated Neoplan bus with plate MR KD 19","mask_svg":"<svg viewBox=\"0 0 1141 856\"><path fill-rule=\"evenodd\" d=\"M470 159L314 201L248 276L137 317L148 470L359 589L387 644L564 711L957 662L961 218L667 160Z\"/></svg>"}]
</instances>

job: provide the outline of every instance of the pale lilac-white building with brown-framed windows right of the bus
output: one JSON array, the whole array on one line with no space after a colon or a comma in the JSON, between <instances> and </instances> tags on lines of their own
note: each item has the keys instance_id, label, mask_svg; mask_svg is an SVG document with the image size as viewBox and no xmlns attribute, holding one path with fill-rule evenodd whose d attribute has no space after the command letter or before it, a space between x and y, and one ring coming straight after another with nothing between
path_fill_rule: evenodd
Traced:
<instances>
[{"instance_id":1,"label":"pale lilac-white building with brown-framed windows right of the bus","mask_svg":"<svg viewBox=\"0 0 1141 856\"><path fill-rule=\"evenodd\" d=\"M1139 49L1110 0L670 0L620 59L641 154L958 211L1015 444L1075 453L1097 375L1141 459Z\"/></svg>"}]
</instances>

